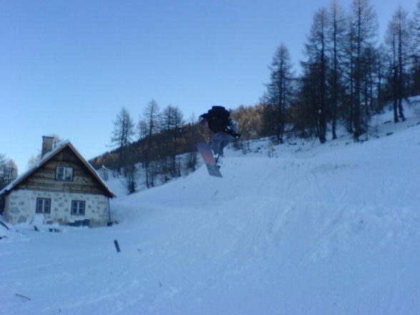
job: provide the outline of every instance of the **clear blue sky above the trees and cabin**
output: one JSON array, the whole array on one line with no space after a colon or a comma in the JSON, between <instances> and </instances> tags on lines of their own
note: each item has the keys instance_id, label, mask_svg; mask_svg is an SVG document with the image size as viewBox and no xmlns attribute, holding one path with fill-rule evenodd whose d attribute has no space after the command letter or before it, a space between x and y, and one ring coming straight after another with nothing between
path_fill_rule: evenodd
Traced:
<instances>
[{"instance_id":1,"label":"clear blue sky above the trees and cabin","mask_svg":"<svg viewBox=\"0 0 420 315\"><path fill-rule=\"evenodd\" d=\"M401 3L371 0L381 33ZM347 11L351 0L341 0ZM0 154L19 173L41 136L86 159L109 151L121 108L139 120L155 99L184 117L254 105L284 43L299 70L314 13L331 0L2 0ZM382 41L382 37L379 38Z\"/></svg>"}]
</instances>

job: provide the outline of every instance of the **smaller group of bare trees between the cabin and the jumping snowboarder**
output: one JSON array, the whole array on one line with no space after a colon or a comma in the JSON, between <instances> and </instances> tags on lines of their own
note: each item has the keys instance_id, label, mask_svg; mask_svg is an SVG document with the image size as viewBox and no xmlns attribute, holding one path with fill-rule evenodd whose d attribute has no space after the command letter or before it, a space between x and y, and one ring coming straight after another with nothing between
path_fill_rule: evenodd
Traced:
<instances>
[{"instance_id":1,"label":"smaller group of bare trees between the cabin and the jumping snowboarder","mask_svg":"<svg viewBox=\"0 0 420 315\"><path fill-rule=\"evenodd\" d=\"M147 188L196 169L195 144L209 139L209 133L196 122L186 123L176 106L160 111L152 100L134 124L126 109L114 121L111 144L116 148L89 161L96 169L122 175L130 192L136 191L136 178L144 174ZM156 181L159 179L159 183Z\"/></svg>"}]
</instances>

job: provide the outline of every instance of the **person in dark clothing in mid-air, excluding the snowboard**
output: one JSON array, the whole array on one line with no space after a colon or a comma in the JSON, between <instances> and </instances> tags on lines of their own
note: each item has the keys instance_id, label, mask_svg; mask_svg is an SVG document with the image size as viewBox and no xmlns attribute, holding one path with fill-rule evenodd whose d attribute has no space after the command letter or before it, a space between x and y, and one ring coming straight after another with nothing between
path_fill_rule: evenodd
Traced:
<instances>
[{"instance_id":1,"label":"person in dark clothing in mid-air, excluding the snowboard","mask_svg":"<svg viewBox=\"0 0 420 315\"><path fill-rule=\"evenodd\" d=\"M206 114L199 116L199 123L209 128L213 133L211 149L216 156L216 163L223 156L223 149L232 139L239 139L238 125L230 118L230 113L223 106L212 106Z\"/></svg>"}]
</instances>

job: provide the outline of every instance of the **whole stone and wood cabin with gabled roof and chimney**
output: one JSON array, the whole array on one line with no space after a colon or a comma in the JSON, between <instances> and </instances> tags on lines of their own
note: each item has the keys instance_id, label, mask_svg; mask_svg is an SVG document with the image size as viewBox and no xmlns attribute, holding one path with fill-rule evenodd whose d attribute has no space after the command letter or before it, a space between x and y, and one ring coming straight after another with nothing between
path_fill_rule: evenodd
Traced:
<instances>
[{"instance_id":1,"label":"whole stone and wood cabin with gabled roof and chimney","mask_svg":"<svg viewBox=\"0 0 420 315\"><path fill-rule=\"evenodd\" d=\"M20 224L38 215L46 223L105 226L114 193L69 141L55 148L53 141L44 136L41 161L0 191L4 218Z\"/></svg>"}]
</instances>

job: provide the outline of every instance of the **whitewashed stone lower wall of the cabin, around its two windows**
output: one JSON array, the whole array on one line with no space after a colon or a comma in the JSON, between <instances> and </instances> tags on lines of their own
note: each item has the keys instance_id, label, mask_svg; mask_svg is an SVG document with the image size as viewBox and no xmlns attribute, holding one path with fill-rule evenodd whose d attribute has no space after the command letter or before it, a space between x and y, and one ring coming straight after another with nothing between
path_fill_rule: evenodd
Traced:
<instances>
[{"instance_id":1,"label":"whitewashed stone lower wall of the cabin, around its two windows","mask_svg":"<svg viewBox=\"0 0 420 315\"><path fill-rule=\"evenodd\" d=\"M50 214L36 214L37 198L51 199ZM71 214L72 200L86 202L84 216ZM11 224L30 222L36 215L43 215L44 220L51 223L71 224L89 219L89 226L105 226L109 221L109 199L100 194L15 189L6 196L3 215Z\"/></svg>"}]
</instances>

